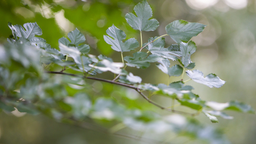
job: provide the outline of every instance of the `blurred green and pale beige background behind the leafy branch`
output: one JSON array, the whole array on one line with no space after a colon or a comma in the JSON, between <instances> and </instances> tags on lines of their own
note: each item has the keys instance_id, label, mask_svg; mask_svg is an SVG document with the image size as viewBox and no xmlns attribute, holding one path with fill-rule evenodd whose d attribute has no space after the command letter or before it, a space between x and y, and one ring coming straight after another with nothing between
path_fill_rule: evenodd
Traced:
<instances>
[{"instance_id":1,"label":"blurred green and pale beige background behind the leafy branch","mask_svg":"<svg viewBox=\"0 0 256 144\"><path fill-rule=\"evenodd\" d=\"M228 102L239 100L256 108L256 1L244 0L246 6L239 8L228 3L230 0L216 1L212 6L202 9L200 4L204 0L148 0L153 9L153 18L160 22L154 32L142 32L143 42L152 36L166 34L165 26L174 20L200 22L207 24L205 30L192 38L196 42L197 50L192 55L196 62L195 69L204 74L215 73L226 84L221 88L208 88L207 86L189 81L194 93L203 100ZM242 2L243 0L241 0ZM140 0L0 0L0 43L4 43L11 34L7 23L24 24L37 22L43 31L44 38L52 47L58 48L58 39L78 28L86 36L86 44L92 47L91 54L105 54L114 61L121 62L119 52L114 52L110 45L103 40L106 29L112 24L124 30L127 38L135 37L140 40L139 32L133 30L124 18ZM193 6L198 6L194 7ZM61 12L66 20L59 21ZM62 25L62 26L61 26ZM66 26L66 27L65 27ZM64 28L64 29L63 29ZM168 36L166 46L174 44ZM124 56L131 55L129 52ZM176 62L172 62L176 64ZM127 68L134 75L140 76L142 82L152 84L167 83L168 76L162 73L154 64L147 69ZM99 77L110 78L112 75L104 74ZM112 77L111 77L112 78ZM184 78L188 79L187 76ZM172 81L178 79L173 78ZM95 88L102 86L94 84ZM102 94L114 88L103 84L99 88ZM118 98L118 96L116 96ZM166 98L153 98L168 106ZM143 100L142 100L143 101ZM150 104L145 108L158 110ZM179 108L178 108L179 109ZM180 110L187 110L182 108ZM224 130L227 138L233 144L254 144L256 141L256 116L227 112L234 116L233 120L219 119L219 123L212 124L207 117L200 114L196 119L203 124L212 125ZM85 130L76 126L62 124L46 116L32 116L26 114L18 117L13 114L0 114L0 144L142 144L143 142L106 136L104 134ZM179 143L174 140L174 144ZM197 144L190 141L188 144Z\"/></svg>"}]
</instances>

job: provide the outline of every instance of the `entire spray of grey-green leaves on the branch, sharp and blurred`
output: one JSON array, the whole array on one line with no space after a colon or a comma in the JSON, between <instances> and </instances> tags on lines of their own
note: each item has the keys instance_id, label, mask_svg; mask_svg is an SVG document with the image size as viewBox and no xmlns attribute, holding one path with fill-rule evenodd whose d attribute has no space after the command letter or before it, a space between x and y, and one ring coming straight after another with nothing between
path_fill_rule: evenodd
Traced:
<instances>
[{"instance_id":1,"label":"entire spray of grey-green leaves on the branch, sharp and blurred","mask_svg":"<svg viewBox=\"0 0 256 144\"><path fill-rule=\"evenodd\" d=\"M154 31L158 28L159 22L150 19L152 9L146 0L137 4L134 11L136 15L128 13L125 18L132 28L140 30L140 34L142 31ZM70 40L64 37L59 39L58 50L52 48L43 38L36 37L42 35L42 30L36 22L24 24L25 29L20 25L13 26L11 23L8 23L8 26L12 30L12 35L7 39L8 43L0 45L0 108L6 112L12 112L15 108L20 112L31 114L42 112L58 121L117 120L125 127L134 130L174 131L177 134L207 139L210 143L216 141L227 143L217 130L203 127L194 120L180 115L159 116L153 112L129 109L126 108L128 106L121 106L109 98L100 97L93 100L90 96L91 85L84 83L84 79L92 79L132 88L148 102L161 109L189 114L176 111L173 107L165 108L150 100L152 95L166 96L182 106L197 111L190 115L194 116L202 112L212 122L218 122L216 116L232 119L232 116L228 116L223 110L255 113L250 106L242 102L206 102L192 92L194 89L192 86L184 85L187 81L183 81L185 69L195 67L190 56L196 51L196 44L190 39L204 30L206 27L204 24L176 20L166 26L166 34L163 36L170 36L177 44L164 48L165 39L162 38L163 36L156 36L149 38L144 44L141 40L139 51L134 52L133 56L126 57L123 57L123 52L136 50L140 44L135 38L124 41L126 34L113 24L106 30L107 35L104 35L104 40L113 50L121 52L122 62L113 62L111 58L103 55L88 54L90 46L84 44L85 36L77 28L68 33ZM143 49L148 52L141 52ZM170 60L178 60L180 64L170 67ZM156 66L169 77L182 76L181 80L168 85L145 84L142 83L142 78L125 70L127 66L147 68L153 62L157 62ZM49 71L52 65L60 66L62 70ZM65 70L69 73L64 73ZM118 76L114 80L89 77L106 71ZM190 80L210 88L220 88L225 83L215 74L204 77L200 70L186 70L186 74ZM74 93L71 91L74 89L72 86L82 86L86 90L76 90ZM145 96L142 91L150 95ZM112 131L116 132L115 128Z\"/></svg>"}]
</instances>

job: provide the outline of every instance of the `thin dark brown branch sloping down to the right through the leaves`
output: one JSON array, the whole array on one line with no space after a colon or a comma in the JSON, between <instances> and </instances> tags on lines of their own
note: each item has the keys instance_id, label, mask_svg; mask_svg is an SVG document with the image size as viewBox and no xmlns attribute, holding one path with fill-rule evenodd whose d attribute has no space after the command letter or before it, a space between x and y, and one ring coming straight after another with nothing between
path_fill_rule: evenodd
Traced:
<instances>
[{"instance_id":1,"label":"thin dark brown branch sloping down to the right through the leaves","mask_svg":"<svg viewBox=\"0 0 256 144\"><path fill-rule=\"evenodd\" d=\"M62 74L62 75L66 75L66 76L74 76L74 77L78 77L78 78L87 78L87 79L91 79L91 80L98 80L98 81L102 81L102 82L108 82L110 84L116 84L116 85L119 85L119 86L124 86L124 87L136 90L144 99L146 99L151 104L157 106L158 108L161 108L162 110L167 110L169 112L174 112L174 113L178 113L178 114L186 114L186 115L190 115L190 116L196 116L196 114L197 114L197 113L191 114L191 113L188 113L188 112L182 112L182 111L172 110L170 108L163 107L160 104L157 104L156 102L153 102L152 100L150 100L147 96L145 96L140 91L140 88L138 88L137 86L132 86L132 85L129 85L129 84L124 84L124 83L121 83L121 82L114 82L112 80L105 80L105 79L102 79L102 78L84 77L84 76L80 76L80 75L76 75L76 74L68 74L68 73L64 73L64 72L52 72L52 71L45 71L45 72L48 73L48 74Z\"/></svg>"}]
</instances>

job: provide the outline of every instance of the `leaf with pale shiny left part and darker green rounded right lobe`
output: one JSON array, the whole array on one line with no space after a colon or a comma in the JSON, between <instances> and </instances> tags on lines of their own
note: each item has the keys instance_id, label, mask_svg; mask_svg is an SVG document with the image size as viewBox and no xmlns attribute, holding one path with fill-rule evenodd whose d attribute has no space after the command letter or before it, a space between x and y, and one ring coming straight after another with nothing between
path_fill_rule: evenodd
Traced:
<instances>
[{"instance_id":1,"label":"leaf with pale shiny left part and darker green rounded right lobe","mask_svg":"<svg viewBox=\"0 0 256 144\"><path fill-rule=\"evenodd\" d=\"M183 72L183 68L178 64L175 64L170 68L170 61L168 59L163 59L158 62L160 64L156 64L156 66L169 76L180 76Z\"/></svg>"}]
</instances>

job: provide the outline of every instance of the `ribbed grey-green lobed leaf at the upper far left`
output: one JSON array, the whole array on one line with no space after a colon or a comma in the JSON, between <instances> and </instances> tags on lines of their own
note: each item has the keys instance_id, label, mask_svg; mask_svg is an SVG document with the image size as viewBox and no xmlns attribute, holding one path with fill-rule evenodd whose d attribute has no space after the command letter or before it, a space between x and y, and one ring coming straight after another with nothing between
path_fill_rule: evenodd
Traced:
<instances>
[{"instance_id":1,"label":"ribbed grey-green lobed leaf at the upper far left","mask_svg":"<svg viewBox=\"0 0 256 144\"><path fill-rule=\"evenodd\" d=\"M29 23L23 24L23 26L26 30L24 30L24 28L21 25L17 24L14 26L16 28L18 37L27 38L30 41L30 43L33 45L37 44L38 42L46 42L46 40L44 40L43 38L35 37L35 36L42 35L42 30L36 24L36 22L34 23L29 22Z\"/></svg>"}]
</instances>

